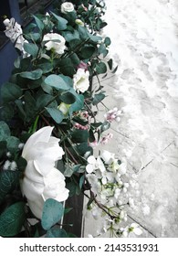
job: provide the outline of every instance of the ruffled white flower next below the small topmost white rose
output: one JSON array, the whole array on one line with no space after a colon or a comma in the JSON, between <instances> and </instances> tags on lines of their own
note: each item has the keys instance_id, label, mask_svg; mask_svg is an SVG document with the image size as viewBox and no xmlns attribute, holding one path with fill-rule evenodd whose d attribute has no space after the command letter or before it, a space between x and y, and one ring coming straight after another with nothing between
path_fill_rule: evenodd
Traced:
<instances>
[{"instance_id":1,"label":"ruffled white flower next below the small topmost white rose","mask_svg":"<svg viewBox=\"0 0 178 256\"><path fill-rule=\"evenodd\" d=\"M57 33L47 33L43 37L43 41L47 42L45 44L47 50L53 49L58 54L63 54L66 48L66 40L64 37L58 35Z\"/></svg>"}]
</instances>

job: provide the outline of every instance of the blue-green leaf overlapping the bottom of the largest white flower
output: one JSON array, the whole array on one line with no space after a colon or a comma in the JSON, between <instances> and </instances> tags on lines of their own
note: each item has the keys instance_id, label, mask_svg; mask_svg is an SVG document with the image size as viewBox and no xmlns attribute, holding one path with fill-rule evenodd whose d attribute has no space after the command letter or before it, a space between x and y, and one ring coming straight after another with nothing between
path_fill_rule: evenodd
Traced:
<instances>
[{"instance_id":1,"label":"blue-green leaf overlapping the bottom of the largest white flower","mask_svg":"<svg viewBox=\"0 0 178 256\"><path fill-rule=\"evenodd\" d=\"M50 229L58 223L64 214L64 208L57 200L48 198L43 207L41 225L43 229Z\"/></svg>"}]
</instances>

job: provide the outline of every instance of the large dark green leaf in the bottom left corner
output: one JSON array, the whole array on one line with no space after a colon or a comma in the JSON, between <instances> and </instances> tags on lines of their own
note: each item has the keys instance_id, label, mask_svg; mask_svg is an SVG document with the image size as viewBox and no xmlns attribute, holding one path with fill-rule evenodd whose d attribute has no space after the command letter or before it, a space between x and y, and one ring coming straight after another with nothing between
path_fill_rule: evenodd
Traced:
<instances>
[{"instance_id":1,"label":"large dark green leaf in the bottom left corner","mask_svg":"<svg viewBox=\"0 0 178 256\"><path fill-rule=\"evenodd\" d=\"M22 229L25 217L24 202L17 202L9 208L6 208L0 215L0 236L16 236Z\"/></svg>"}]
</instances>

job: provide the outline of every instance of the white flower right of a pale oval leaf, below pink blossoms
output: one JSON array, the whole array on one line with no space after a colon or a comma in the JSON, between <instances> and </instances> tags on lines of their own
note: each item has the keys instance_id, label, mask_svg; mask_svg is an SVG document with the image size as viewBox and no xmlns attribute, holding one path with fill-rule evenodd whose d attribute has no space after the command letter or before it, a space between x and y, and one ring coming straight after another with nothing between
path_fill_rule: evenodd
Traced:
<instances>
[{"instance_id":1,"label":"white flower right of a pale oval leaf, below pink blossoms","mask_svg":"<svg viewBox=\"0 0 178 256\"><path fill-rule=\"evenodd\" d=\"M74 89L77 92L85 92L89 89L89 71L78 69L73 77Z\"/></svg>"}]
</instances>

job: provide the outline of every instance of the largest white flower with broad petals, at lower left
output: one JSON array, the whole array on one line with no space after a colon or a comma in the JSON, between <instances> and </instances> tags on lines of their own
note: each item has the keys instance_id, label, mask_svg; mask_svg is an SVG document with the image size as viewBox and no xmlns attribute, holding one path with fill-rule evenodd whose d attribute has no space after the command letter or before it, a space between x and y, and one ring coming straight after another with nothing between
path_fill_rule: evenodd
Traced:
<instances>
[{"instance_id":1,"label":"largest white flower with broad petals, at lower left","mask_svg":"<svg viewBox=\"0 0 178 256\"><path fill-rule=\"evenodd\" d=\"M42 217L47 198L58 202L68 198L65 177L55 168L56 161L62 159L64 151L58 145L59 139L51 136L52 130L52 127L47 126L31 135L22 152L27 165L21 190L29 208L38 219Z\"/></svg>"}]
</instances>

